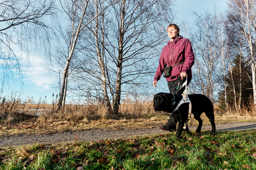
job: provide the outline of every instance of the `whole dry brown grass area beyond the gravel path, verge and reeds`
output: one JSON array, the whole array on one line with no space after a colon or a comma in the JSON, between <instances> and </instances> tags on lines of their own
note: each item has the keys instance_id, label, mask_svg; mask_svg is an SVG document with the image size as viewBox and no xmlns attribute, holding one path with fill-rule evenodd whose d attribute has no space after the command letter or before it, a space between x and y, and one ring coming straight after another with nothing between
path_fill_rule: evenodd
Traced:
<instances>
[{"instance_id":1,"label":"whole dry brown grass area beyond the gravel path, verge and reeds","mask_svg":"<svg viewBox=\"0 0 256 170\"><path fill-rule=\"evenodd\" d=\"M168 113L155 112L153 101L120 104L118 115L107 115L102 104L69 103L64 111L57 112L54 104L35 104L33 100L0 100L0 137L18 134L49 134L88 129L150 129L165 124ZM250 105L249 105L250 106ZM215 108L215 123L256 121L256 110L243 107L222 112ZM210 124L203 114L203 124ZM198 122L195 121L194 124Z\"/></svg>"}]
</instances>

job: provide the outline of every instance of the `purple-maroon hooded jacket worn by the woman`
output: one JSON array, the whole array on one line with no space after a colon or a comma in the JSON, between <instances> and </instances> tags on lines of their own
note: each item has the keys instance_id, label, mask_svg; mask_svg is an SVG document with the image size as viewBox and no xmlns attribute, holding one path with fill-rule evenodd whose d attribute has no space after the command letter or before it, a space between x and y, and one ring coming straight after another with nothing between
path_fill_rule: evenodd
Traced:
<instances>
[{"instance_id":1,"label":"purple-maroon hooded jacket worn by the woman","mask_svg":"<svg viewBox=\"0 0 256 170\"><path fill-rule=\"evenodd\" d=\"M177 77L180 76L181 72L186 72L188 76L192 77L191 67L195 62L195 56L190 41L179 36L174 39L173 42L168 41L167 44L168 45L163 47L154 81L158 81L161 78L165 67L173 66L180 62L184 63L174 66L171 76L166 78L166 81L176 80Z\"/></svg>"}]
</instances>

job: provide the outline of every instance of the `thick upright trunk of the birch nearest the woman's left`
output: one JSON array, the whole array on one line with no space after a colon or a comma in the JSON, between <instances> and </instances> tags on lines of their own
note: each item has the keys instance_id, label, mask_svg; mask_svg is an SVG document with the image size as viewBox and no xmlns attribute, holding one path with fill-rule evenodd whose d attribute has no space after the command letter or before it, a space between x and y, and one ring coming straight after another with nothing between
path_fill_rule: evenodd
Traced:
<instances>
[{"instance_id":1,"label":"thick upright trunk of the birch nearest the woman's left","mask_svg":"<svg viewBox=\"0 0 256 170\"><path fill-rule=\"evenodd\" d=\"M118 114L118 109L121 99L121 79L122 79L122 62L123 62L123 40L124 40L124 15L125 15L125 0L122 0L121 4L121 15L120 15L120 40L118 49L118 59L117 59L117 73L116 73L116 92L114 99L114 114Z\"/></svg>"}]
</instances>

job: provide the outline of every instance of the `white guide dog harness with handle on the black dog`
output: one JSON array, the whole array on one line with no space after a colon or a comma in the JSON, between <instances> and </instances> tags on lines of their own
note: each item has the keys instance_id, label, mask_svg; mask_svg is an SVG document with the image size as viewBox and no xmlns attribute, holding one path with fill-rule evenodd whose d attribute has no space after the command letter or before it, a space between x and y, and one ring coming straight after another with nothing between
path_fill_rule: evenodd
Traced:
<instances>
[{"instance_id":1,"label":"white guide dog harness with handle on the black dog","mask_svg":"<svg viewBox=\"0 0 256 170\"><path fill-rule=\"evenodd\" d=\"M182 100L180 100L180 102L177 104L177 106L173 109L172 113L173 114L174 112L176 112L178 110L178 108L180 107L181 104L183 103L189 103L188 105L188 119L185 121L185 124L184 124L184 127L183 129L186 129L187 125L188 125L188 120L190 120L190 125L192 126L193 122L194 122L194 115L191 114L191 110L192 110L192 104L191 104L191 101L189 100L188 98L188 94L187 94L187 80L188 80L188 75L187 75L187 79L186 81L182 84L182 87L185 86L185 92L182 93ZM181 89L182 87L178 87L178 89ZM176 91L177 93L177 91ZM174 94L176 94L174 93ZM173 94L173 103L172 103L172 107L173 105L176 103L174 100L175 100L175 97L174 97L174 94Z\"/></svg>"}]
</instances>

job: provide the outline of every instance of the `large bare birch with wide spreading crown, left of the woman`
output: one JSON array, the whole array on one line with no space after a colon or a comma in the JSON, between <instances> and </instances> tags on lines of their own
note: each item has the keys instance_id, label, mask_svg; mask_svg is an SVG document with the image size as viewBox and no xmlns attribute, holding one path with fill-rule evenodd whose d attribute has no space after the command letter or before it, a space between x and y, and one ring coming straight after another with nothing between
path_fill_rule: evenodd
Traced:
<instances>
[{"instance_id":1,"label":"large bare birch with wide spreading crown, left of the woman","mask_svg":"<svg viewBox=\"0 0 256 170\"><path fill-rule=\"evenodd\" d=\"M103 7L103 1L94 4L94 8ZM131 93L129 87L144 84L140 78L146 79L153 72L159 45L166 37L165 27L172 16L168 12L171 5L172 1L159 0L121 0L111 5L107 13L88 25L90 32L84 32L83 42L90 41L80 43L85 58L77 61L78 74L74 78L84 81L74 89L83 94L90 91L95 98L103 95L104 103L111 107L108 110L116 115L122 92ZM163 27L162 23L167 24Z\"/></svg>"}]
</instances>

